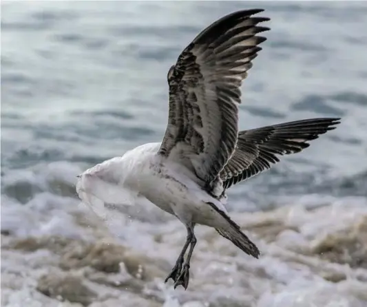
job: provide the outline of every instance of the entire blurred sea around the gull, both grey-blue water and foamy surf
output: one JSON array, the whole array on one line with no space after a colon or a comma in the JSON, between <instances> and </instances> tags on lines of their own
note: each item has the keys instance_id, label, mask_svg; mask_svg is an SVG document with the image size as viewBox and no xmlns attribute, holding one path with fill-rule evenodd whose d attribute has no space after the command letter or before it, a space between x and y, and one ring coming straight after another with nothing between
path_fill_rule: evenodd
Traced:
<instances>
[{"instance_id":1,"label":"entire blurred sea around the gull, both grey-blue water and foamy surf","mask_svg":"<svg viewBox=\"0 0 367 307\"><path fill-rule=\"evenodd\" d=\"M242 87L240 128L342 124L229 191L260 260L199 229L191 286L173 291L162 280L180 222L141 205L101 224L75 176L160 142L169 67L244 8L264 8L271 31ZM366 306L366 14L364 1L3 1L1 306Z\"/></svg>"}]
</instances>

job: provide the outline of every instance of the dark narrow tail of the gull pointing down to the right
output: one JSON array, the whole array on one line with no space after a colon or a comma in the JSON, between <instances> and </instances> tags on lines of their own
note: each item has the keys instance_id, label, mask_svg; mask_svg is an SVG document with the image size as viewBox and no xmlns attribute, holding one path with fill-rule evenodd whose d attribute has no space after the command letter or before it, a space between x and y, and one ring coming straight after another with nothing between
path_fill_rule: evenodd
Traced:
<instances>
[{"instance_id":1,"label":"dark narrow tail of the gull pointing down to the right","mask_svg":"<svg viewBox=\"0 0 367 307\"><path fill-rule=\"evenodd\" d=\"M225 237L227 240L231 241L235 246L242 249L245 253L248 255L251 255L255 258L258 258L260 256L260 251L258 247L251 242L249 237L242 233L240 226L233 222L229 215L225 213L224 211L218 209L215 204L212 204L211 202L208 202L208 204L213 207L220 215L222 215L222 218L226 221L226 223L223 224L222 227L216 228L216 231L222 235L222 237Z\"/></svg>"}]
</instances>

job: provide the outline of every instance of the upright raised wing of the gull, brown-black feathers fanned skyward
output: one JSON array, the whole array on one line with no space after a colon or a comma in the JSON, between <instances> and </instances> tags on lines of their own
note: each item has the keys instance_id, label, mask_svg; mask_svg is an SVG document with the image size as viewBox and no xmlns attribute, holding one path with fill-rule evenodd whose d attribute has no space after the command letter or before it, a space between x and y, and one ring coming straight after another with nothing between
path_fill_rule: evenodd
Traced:
<instances>
[{"instance_id":1,"label":"upright raised wing of the gull, brown-black feathers fanned skyward","mask_svg":"<svg viewBox=\"0 0 367 307\"><path fill-rule=\"evenodd\" d=\"M168 72L169 119L159 154L210 184L231 158L238 136L242 80L269 30L263 10L242 10L203 30Z\"/></svg>"}]
</instances>

